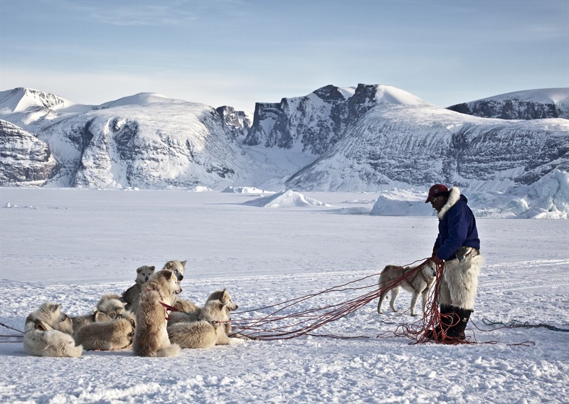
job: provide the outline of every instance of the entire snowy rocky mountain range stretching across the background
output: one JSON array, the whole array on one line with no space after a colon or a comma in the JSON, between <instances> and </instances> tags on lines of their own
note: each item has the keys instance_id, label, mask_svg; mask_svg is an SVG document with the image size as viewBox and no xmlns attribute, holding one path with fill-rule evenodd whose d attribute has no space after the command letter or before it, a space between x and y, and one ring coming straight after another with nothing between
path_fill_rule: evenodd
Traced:
<instances>
[{"instance_id":1,"label":"entire snowy rocky mountain range stretching across the background","mask_svg":"<svg viewBox=\"0 0 569 404\"><path fill-rule=\"evenodd\" d=\"M28 89L0 100L11 123L0 126L0 185L508 193L569 171L568 119L473 117L389 85L257 103L250 129L231 107L154 93L99 106Z\"/></svg>"}]
</instances>

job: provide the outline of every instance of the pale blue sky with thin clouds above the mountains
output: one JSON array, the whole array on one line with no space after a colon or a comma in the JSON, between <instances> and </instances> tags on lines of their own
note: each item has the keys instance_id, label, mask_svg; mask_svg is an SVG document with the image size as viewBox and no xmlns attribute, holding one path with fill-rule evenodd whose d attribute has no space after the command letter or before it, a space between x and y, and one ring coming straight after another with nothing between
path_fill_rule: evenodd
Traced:
<instances>
[{"instance_id":1,"label":"pale blue sky with thin clouds above the mountains","mask_svg":"<svg viewBox=\"0 0 569 404\"><path fill-rule=\"evenodd\" d=\"M0 0L0 90L252 112L358 83L442 107L569 87L569 1Z\"/></svg>"}]
</instances>

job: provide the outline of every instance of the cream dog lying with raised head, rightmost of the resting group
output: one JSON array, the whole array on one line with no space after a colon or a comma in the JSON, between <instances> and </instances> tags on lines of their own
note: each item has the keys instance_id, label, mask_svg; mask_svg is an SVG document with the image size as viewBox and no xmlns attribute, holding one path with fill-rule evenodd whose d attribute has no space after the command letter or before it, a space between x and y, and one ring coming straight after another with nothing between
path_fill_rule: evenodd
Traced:
<instances>
[{"instance_id":1,"label":"cream dog lying with raised head, rightmost of the resting group","mask_svg":"<svg viewBox=\"0 0 569 404\"><path fill-rule=\"evenodd\" d=\"M214 345L238 344L242 339L229 336L229 312L236 310L227 290L213 292L199 310L198 321L178 322L168 326L170 341L181 348L211 348Z\"/></svg>"}]
</instances>

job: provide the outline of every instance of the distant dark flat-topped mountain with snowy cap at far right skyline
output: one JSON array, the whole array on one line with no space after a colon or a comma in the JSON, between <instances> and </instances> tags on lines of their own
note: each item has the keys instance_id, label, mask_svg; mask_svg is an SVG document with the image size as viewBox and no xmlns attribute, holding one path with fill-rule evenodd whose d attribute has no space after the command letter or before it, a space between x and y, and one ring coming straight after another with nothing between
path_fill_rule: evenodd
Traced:
<instances>
[{"instance_id":1,"label":"distant dark flat-topped mountain with snowy cap at far right skyline","mask_svg":"<svg viewBox=\"0 0 569 404\"><path fill-rule=\"evenodd\" d=\"M462 102L451 111L476 117L500 119L569 119L569 88L543 88L494 95L482 100Z\"/></svg>"}]
</instances>

